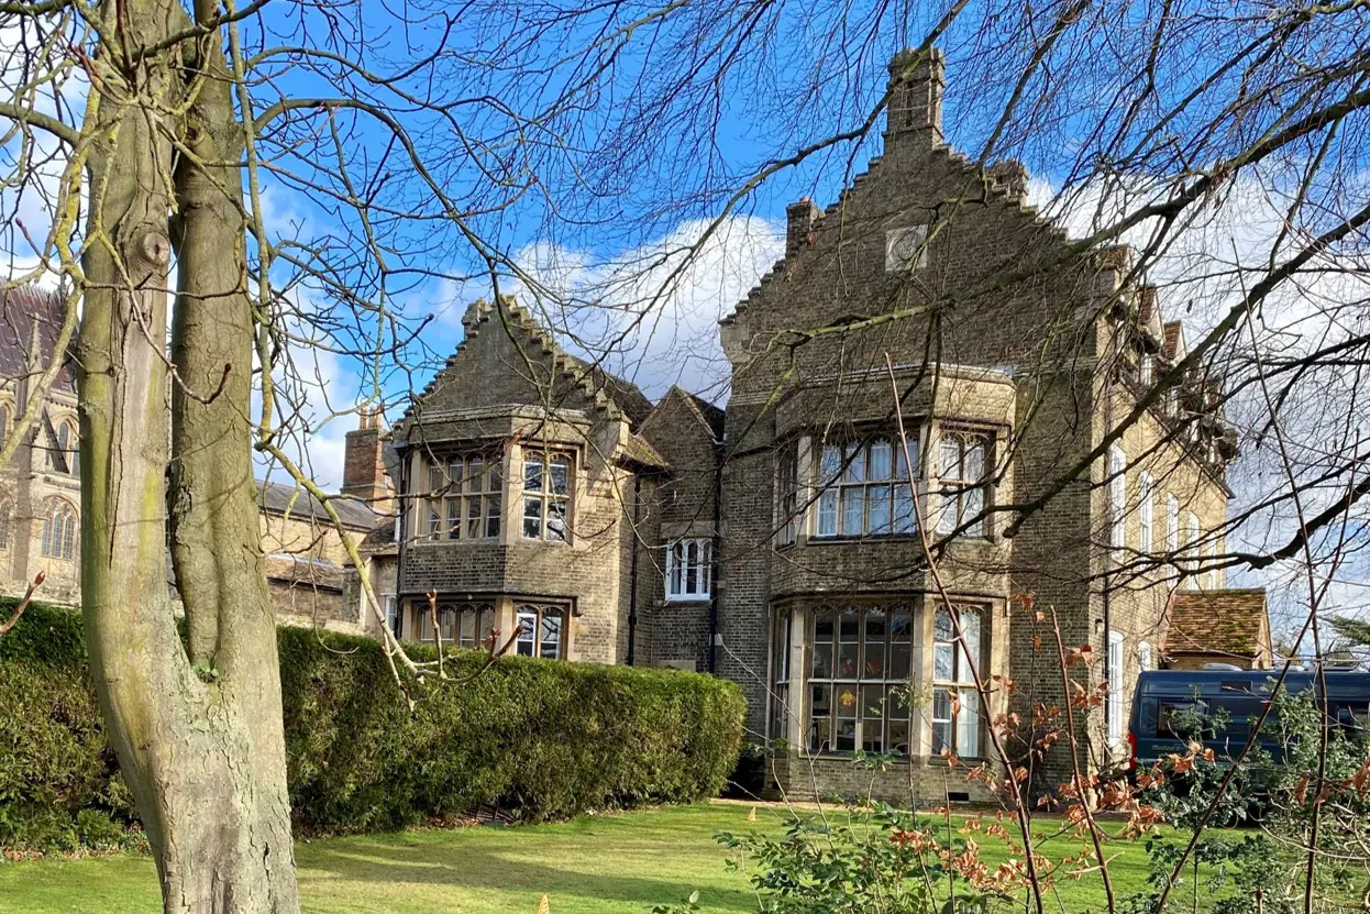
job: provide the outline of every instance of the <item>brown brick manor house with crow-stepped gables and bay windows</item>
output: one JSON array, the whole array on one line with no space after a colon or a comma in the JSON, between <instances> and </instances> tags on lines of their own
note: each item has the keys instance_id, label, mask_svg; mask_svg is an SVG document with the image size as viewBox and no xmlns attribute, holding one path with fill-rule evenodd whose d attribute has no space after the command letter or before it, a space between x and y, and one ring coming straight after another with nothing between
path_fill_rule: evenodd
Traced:
<instances>
[{"instance_id":1,"label":"brown brick manor house with crow-stepped gables and bay windows","mask_svg":"<svg viewBox=\"0 0 1370 914\"><path fill-rule=\"evenodd\" d=\"M1084 678L1112 687L1081 750L1096 767L1121 758L1132 681L1171 641L1189 662L1270 663L1263 595L1204 563L1236 454L1217 382L1159 389L1184 328L1126 248L1071 252L1021 164L943 141L943 79L938 52L897 56L882 155L826 210L789 207L785 256L721 326L726 410L680 388L653 404L514 300L467 308L393 430L400 528L367 541L403 637L433 637L436 592L448 643L518 630L519 654L714 671L745 691L751 739L784 741L790 792L864 785L844 755L866 750L903 759L875 784L904 798L943 796L944 750L989 758L1010 700L1060 703L1055 648L1034 647L1055 644L1047 610L1097 658ZM996 508L1048 492L1006 536L1017 514ZM1241 618L1206 628L1206 606ZM996 685L978 707L967 651L1012 699ZM984 799L958 782L954 799Z\"/></svg>"}]
</instances>

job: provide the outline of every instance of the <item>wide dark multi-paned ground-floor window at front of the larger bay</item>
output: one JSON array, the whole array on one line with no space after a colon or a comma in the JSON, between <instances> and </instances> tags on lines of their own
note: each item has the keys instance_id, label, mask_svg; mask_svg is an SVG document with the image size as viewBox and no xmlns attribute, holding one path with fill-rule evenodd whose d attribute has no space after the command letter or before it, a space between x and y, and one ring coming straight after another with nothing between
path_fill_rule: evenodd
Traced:
<instances>
[{"instance_id":1,"label":"wide dark multi-paned ground-floor window at front of the larger bay","mask_svg":"<svg viewBox=\"0 0 1370 914\"><path fill-rule=\"evenodd\" d=\"M811 623L810 752L908 752L912 615L821 610Z\"/></svg>"}]
</instances>

